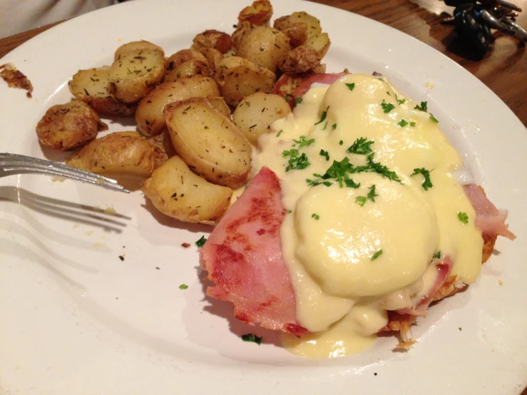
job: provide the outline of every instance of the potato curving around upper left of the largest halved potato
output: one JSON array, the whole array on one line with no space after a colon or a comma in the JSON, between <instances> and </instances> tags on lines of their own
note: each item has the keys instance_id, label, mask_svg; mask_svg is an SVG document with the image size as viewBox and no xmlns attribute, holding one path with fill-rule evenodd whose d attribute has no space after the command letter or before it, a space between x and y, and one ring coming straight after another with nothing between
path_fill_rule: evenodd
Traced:
<instances>
[{"instance_id":1,"label":"potato curving around upper left of the largest halved potato","mask_svg":"<svg viewBox=\"0 0 527 395\"><path fill-rule=\"evenodd\" d=\"M173 101L187 98L220 96L213 78L195 75L164 82L140 101L135 111L137 127L143 135L157 135L165 127L163 108Z\"/></svg>"}]
</instances>

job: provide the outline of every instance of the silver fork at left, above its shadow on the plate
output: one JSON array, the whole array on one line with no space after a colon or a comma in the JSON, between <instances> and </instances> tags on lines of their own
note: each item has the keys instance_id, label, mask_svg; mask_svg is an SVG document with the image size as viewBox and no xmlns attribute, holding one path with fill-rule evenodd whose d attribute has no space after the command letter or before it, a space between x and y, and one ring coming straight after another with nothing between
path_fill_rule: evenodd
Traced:
<instances>
[{"instance_id":1,"label":"silver fork at left, above its shadow on the plate","mask_svg":"<svg viewBox=\"0 0 527 395\"><path fill-rule=\"evenodd\" d=\"M130 193L129 190L119 185L116 180L104 177L103 175L72 168L71 166L52 162L51 160L32 158L31 156L15 153L0 153L0 178L6 177L7 175L23 173L56 175L57 177L71 178L72 180L82 181L83 183L91 183L103 188Z\"/></svg>"}]
</instances>

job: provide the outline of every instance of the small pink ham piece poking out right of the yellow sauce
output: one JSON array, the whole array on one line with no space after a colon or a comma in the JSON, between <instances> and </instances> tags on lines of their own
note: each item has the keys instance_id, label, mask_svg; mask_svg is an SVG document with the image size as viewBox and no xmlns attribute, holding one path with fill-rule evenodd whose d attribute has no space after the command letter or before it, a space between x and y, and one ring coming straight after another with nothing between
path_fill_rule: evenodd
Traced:
<instances>
[{"instance_id":1,"label":"small pink ham piece poking out right of the yellow sauce","mask_svg":"<svg viewBox=\"0 0 527 395\"><path fill-rule=\"evenodd\" d=\"M511 240L516 239L505 223L507 210L498 210L476 184L463 185L463 189L476 210L476 227L483 233L483 238L498 235Z\"/></svg>"}]
</instances>

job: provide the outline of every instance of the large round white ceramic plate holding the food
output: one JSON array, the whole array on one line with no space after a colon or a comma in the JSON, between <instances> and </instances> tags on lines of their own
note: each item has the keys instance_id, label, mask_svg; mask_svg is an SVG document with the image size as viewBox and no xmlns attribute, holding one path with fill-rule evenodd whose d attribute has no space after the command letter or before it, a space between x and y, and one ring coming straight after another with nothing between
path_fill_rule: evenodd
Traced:
<instances>
[{"instance_id":1,"label":"large round white ceramic plate holding the food","mask_svg":"<svg viewBox=\"0 0 527 395\"><path fill-rule=\"evenodd\" d=\"M73 19L9 53L34 98L0 83L0 151L43 153L35 125L70 99L79 68L111 63L126 41L167 53L205 29L232 31L250 1L131 1ZM210 231L152 215L139 192L110 192L37 175L0 180L0 389L3 394L518 394L527 382L526 129L491 91L423 43L382 24L307 1L275 1L275 15L322 21L329 71L382 72L426 100L476 180L508 208L515 242L466 292L429 310L418 343L393 337L342 359L297 359L267 332L204 298L194 242ZM426 83L435 88L427 89ZM133 123L111 121L111 130ZM54 158L59 158L57 155ZM90 207L114 207L108 217ZM185 250L181 243L189 242ZM119 255L125 257L124 261ZM499 285L500 281L503 285ZM186 290L178 286L188 284ZM265 344L240 334L265 335Z\"/></svg>"}]
</instances>

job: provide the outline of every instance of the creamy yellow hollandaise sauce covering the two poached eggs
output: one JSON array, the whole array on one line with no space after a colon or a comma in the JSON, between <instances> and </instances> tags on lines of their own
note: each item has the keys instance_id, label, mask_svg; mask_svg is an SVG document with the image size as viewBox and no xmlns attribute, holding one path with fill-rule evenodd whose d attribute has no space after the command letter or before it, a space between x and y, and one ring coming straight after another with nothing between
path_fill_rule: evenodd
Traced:
<instances>
[{"instance_id":1,"label":"creamy yellow hollandaise sauce covering the two poached eggs","mask_svg":"<svg viewBox=\"0 0 527 395\"><path fill-rule=\"evenodd\" d=\"M385 79L350 74L310 89L292 114L273 123L273 133L258 140L253 171L267 166L281 180L282 201L291 210L280 230L283 257L297 320L313 332L283 337L295 354L340 356L367 347L387 324L387 309L413 307L416 295L434 284L430 262L438 251L454 261L451 275L459 281L471 284L479 275L483 241L457 181L463 162L439 124L415 106ZM301 136L313 141L302 144ZM307 183L334 160L366 165L367 155L347 152L359 138L373 141L374 162L400 182L364 172L349 174L358 188L341 188L335 180ZM290 157L283 152L292 148L305 153L308 167L287 170ZM431 171L433 188L424 190L424 176L412 175L416 168ZM469 224L458 212L469 215Z\"/></svg>"}]
</instances>

